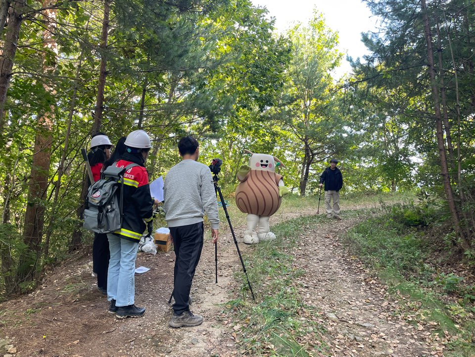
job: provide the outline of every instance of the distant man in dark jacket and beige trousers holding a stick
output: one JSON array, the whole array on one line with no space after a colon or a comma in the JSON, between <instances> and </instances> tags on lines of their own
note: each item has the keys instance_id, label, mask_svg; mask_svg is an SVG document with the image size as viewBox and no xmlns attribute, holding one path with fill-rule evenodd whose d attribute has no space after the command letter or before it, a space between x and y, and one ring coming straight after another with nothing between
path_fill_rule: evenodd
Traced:
<instances>
[{"instance_id":1,"label":"distant man in dark jacket and beige trousers holding a stick","mask_svg":"<svg viewBox=\"0 0 475 357\"><path fill-rule=\"evenodd\" d=\"M327 167L320 176L320 187L325 183L325 210L328 218L340 220L340 194L343 187L343 175L336 167L338 161L334 158L330 160L330 167ZM333 207L330 202L333 200Z\"/></svg>"}]
</instances>

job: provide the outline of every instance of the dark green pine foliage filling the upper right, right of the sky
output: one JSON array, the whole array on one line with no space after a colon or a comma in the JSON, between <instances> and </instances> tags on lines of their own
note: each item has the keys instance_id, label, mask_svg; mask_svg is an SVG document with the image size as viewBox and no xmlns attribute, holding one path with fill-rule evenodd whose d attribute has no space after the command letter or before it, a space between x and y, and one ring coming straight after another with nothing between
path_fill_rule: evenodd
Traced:
<instances>
[{"instance_id":1,"label":"dark green pine foliage filling the upper right, right of the sky","mask_svg":"<svg viewBox=\"0 0 475 357\"><path fill-rule=\"evenodd\" d=\"M473 91L466 93L462 83L473 84L474 77L461 63L466 61L465 49L473 47L475 29L467 21L474 20L474 13L465 0L367 4L381 23L379 31L363 35L373 53L366 62L353 61L355 75L347 81L351 115L362 132L357 164L369 166L391 190L415 181L426 192L449 200L458 236L452 241L470 250L475 231L469 188L474 128L467 118L474 106L465 102ZM427 65L428 59L434 65ZM374 153L373 159L365 149ZM445 184L441 172L450 176ZM407 221L420 224L419 217L408 216Z\"/></svg>"}]
</instances>

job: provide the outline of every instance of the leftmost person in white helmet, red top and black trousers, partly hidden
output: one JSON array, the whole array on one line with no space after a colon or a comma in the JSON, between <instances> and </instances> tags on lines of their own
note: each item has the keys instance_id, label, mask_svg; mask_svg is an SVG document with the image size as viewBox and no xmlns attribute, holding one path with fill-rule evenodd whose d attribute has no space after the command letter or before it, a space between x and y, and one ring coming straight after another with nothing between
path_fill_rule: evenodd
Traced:
<instances>
[{"instance_id":1,"label":"leftmost person in white helmet, red top and black trousers, partly hidden","mask_svg":"<svg viewBox=\"0 0 475 357\"><path fill-rule=\"evenodd\" d=\"M104 133L96 133L91 140L91 151L88 153L89 164L94 181L100 179L104 162L111 156L112 144ZM92 184L92 183L91 183ZM107 270L109 267L109 242L107 234L95 233L93 243L93 272L97 275L97 290L107 294Z\"/></svg>"}]
</instances>

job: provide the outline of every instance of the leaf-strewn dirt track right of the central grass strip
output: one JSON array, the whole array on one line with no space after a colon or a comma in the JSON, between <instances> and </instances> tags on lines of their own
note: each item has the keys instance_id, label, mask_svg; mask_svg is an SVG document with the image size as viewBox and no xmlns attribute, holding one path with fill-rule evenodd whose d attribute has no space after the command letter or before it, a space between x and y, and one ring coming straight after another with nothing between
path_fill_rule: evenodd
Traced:
<instances>
[{"instance_id":1,"label":"leaf-strewn dirt track right of the central grass strip","mask_svg":"<svg viewBox=\"0 0 475 357\"><path fill-rule=\"evenodd\" d=\"M327 324L326 342L332 356L429 356L433 325L407 323L397 304L387 300L386 287L373 279L357 260L347 256L338 236L356 221L322 226L301 237L295 256L306 271L301 295L315 306ZM310 255L308 252L313 252ZM432 347L434 351L432 351ZM439 355L442 356L442 353Z\"/></svg>"}]
</instances>

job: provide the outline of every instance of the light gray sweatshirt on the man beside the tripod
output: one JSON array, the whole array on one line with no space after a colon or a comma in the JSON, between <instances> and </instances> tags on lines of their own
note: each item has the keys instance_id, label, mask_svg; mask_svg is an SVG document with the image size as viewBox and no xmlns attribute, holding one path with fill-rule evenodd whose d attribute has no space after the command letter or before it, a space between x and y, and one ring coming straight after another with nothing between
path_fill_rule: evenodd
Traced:
<instances>
[{"instance_id":1,"label":"light gray sweatshirt on the man beside the tripod","mask_svg":"<svg viewBox=\"0 0 475 357\"><path fill-rule=\"evenodd\" d=\"M165 176L163 209L169 227L203 221L204 212L212 229L218 229L218 204L209 167L194 160L182 160Z\"/></svg>"}]
</instances>

